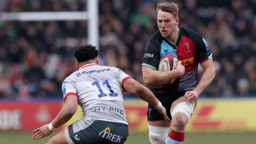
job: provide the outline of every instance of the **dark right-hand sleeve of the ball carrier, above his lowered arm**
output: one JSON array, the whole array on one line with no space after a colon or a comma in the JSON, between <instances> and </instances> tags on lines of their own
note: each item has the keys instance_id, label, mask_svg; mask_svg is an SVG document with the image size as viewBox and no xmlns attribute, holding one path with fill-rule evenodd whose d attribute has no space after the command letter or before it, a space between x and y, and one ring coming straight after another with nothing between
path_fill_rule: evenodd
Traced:
<instances>
[{"instance_id":1,"label":"dark right-hand sleeve of the ball carrier, above his lowered arm","mask_svg":"<svg viewBox=\"0 0 256 144\"><path fill-rule=\"evenodd\" d=\"M196 57L199 63L203 63L212 58L209 45L202 36L200 36L196 42Z\"/></svg>"}]
</instances>

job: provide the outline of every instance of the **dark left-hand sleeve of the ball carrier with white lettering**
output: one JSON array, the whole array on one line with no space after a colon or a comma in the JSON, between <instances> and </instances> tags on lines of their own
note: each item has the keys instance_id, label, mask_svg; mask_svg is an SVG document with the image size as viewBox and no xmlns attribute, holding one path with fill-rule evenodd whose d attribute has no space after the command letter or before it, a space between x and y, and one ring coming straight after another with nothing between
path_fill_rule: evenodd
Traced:
<instances>
[{"instance_id":1,"label":"dark left-hand sleeve of the ball carrier with white lettering","mask_svg":"<svg viewBox=\"0 0 256 144\"><path fill-rule=\"evenodd\" d=\"M153 35L146 47L145 53L142 59L142 66L150 67L154 70L158 69L158 64L160 60L160 45L161 45L161 36Z\"/></svg>"}]
</instances>

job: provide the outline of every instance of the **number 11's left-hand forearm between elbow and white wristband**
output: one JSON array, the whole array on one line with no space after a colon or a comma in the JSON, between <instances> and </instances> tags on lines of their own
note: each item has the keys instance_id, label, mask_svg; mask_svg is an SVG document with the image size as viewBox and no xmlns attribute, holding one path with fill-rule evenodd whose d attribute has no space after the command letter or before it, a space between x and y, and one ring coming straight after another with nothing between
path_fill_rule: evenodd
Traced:
<instances>
[{"instance_id":1,"label":"number 11's left-hand forearm between elbow and white wristband","mask_svg":"<svg viewBox=\"0 0 256 144\"><path fill-rule=\"evenodd\" d=\"M70 111L67 105L65 105L59 114L53 119L52 125L53 127L57 128L66 122L75 114L75 111Z\"/></svg>"}]
</instances>

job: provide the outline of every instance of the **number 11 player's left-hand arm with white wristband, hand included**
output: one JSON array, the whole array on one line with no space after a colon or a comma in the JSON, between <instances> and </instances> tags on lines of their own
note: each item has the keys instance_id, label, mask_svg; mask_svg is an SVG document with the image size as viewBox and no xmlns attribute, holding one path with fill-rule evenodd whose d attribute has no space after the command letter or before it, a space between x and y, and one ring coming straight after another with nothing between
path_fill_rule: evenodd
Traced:
<instances>
[{"instance_id":1,"label":"number 11 player's left-hand arm with white wristband, hand included","mask_svg":"<svg viewBox=\"0 0 256 144\"><path fill-rule=\"evenodd\" d=\"M45 124L33 130L32 139L39 140L50 135L54 128L57 128L66 122L76 113L77 97L76 95L69 95L65 100L65 106L61 109L59 114L53 119L50 124Z\"/></svg>"}]
</instances>

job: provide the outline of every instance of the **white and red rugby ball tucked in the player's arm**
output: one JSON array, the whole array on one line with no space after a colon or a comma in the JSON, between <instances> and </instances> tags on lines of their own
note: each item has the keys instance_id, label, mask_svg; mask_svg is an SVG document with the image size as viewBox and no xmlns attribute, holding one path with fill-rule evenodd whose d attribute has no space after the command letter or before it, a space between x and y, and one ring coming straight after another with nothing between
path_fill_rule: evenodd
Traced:
<instances>
[{"instance_id":1,"label":"white and red rugby ball tucked in the player's arm","mask_svg":"<svg viewBox=\"0 0 256 144\"><path fill-rule=\"evenodd\" d=\"M160 71L174 70L174 69L176 69L178 62L179 61L175 57L175 55L166 54L159 61L158 70L160 70ZM175 80L176 80L176 78L173 78L169 84L173 83Z\"/></svg>"}]
</instances>

